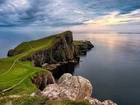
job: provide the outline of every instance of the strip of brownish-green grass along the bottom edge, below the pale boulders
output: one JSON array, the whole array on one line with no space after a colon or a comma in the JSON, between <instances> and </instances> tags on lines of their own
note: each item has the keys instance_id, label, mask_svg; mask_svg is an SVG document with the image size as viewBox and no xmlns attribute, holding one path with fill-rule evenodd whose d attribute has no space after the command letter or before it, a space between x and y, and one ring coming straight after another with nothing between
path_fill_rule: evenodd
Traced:
<instances>
[{"instance_id":1,"label":"strip of brownish-green grass along the bottom edge, below the pale boulders","mask_svg":"<svg viewBox=\"0 0 140 105\"><path fill-rule=\"evenodd\" d=\"M48 100L46 97L22 96L18 98L3 98L0 105L90 105L88 101L72 100Z\"/></svg>"}]
</instances>

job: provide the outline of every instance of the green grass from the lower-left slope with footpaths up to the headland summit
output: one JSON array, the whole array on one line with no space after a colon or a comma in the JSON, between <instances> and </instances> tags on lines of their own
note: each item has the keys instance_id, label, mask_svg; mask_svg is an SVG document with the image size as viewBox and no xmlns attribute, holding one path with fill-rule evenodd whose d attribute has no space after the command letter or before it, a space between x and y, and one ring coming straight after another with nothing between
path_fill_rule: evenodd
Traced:
<instances>
[{"instance_id":1,"label":"green grass from the lower-left slope with footpaths up to the headland summit","mask_svg":"<svg viewBox=\"0 0 140 105\"><path fill-rule=\"evenodd\" d=\"M39 40L23 42L13 49L15 52L19 52L19 54L0 59L0 93L2 93L0 96L31 94L39 91L36 86L32 84L30 78L39 72L49 72L42 68L34 67L32 62L22 62L20 59L38 50L53 46L57 42L58 37L62 37L67 33L71 32L66 31Z\"/></svg>"}]
</instances>

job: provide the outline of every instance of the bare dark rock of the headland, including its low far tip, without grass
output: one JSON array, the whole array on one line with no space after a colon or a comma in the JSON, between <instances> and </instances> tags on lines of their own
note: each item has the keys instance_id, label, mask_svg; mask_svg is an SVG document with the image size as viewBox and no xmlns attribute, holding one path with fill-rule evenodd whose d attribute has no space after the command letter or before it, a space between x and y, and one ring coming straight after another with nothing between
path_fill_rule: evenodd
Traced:
<instances>
[{"instance_id":1,"label":"bare dark rock of the headland, including its low far tip, without grass","mask_svg":"<svg viewBox=\"0 0 140 105\"><path fill-rule=\"evenodd\" d=\"M56 64L56 63L66 63L71 61L76 61L77 57L81 54L81 52L87 52L87 50L91 49L93 45L89 41L83 42L82 45L74 45L73 44L73 36L71 31L67 31L62 33L62 35L54 35L50 36L56 39L56 42L50 47L40 49L35 53L22 58L23 61L29 60L34 63L35 66L42 67L44 64ZM26 44L27 42L23 42L22 44ZM30 42L29 42L30 43ZM47 42L46 42L47 43ZM18 45L20 46L20 45ZM18 46L16 48L18 48ZM8 56L14 56L20 53L23 53L24 49L9 50Z\"/></svg>"}]
</instances>

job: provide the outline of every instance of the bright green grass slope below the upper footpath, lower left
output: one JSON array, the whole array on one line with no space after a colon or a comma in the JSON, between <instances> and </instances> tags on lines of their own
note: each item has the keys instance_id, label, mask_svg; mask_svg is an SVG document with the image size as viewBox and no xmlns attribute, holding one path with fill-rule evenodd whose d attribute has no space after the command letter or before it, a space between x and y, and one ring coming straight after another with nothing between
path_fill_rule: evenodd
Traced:
<instances>
[{"instance_id":1,"label":"bright green grass slope below the upper footpath, lower left","mask_svg":"<svg viewBox=\"0 0 140 105\"><path fill-rule=\"evenodd\" d=\"M19 56L19 55L18 55ZM12 57L10 57L11 59ZM13 57L17 58L17 57ZM7 58L9 59L9 58ZM14 59L12 60L14 61ZM2 62L0 62L2 65ZM5 63L4 63L5 64ZM5 65L11 65L12 63L6 63ZM5 71L7 71L9 67L4 68ZM15 84L18 84L20 81L22 81L20 84L15 86L10 92L6 92L4 95L9 94L31 94L32 92L39 91L35 85L32 84L30 81L30 77L35 75L37 72L48 72L42 68L33 67L32 63L29 61L21 62L18 60L13 68L7 72L6 74L0 76L0 90L4 90L6 88L9 88ZM20 90L17 92L17 90Z\"/></svg>"}]
</instances>

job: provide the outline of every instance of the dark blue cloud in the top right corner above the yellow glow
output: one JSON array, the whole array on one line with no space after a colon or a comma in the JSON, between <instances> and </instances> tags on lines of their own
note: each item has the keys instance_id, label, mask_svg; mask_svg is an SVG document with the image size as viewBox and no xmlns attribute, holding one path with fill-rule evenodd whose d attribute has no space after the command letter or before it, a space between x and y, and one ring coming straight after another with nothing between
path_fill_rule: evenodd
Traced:
<instances>
[{"instance_id":1,"label":"dark blue cloud in the top right corner above the yellow glow","mask_svg":"<svg viewBox=\"0 0 140 105\"><path fill-rule=\"evenodd\" d=\"M91 10L95 10L99 15L104 12L119 11L120 14L127 14L140 9L139 0L98 0L91 1L87 5Z\"/></svg>"}]
</instances>

